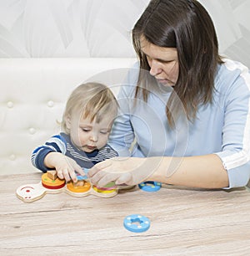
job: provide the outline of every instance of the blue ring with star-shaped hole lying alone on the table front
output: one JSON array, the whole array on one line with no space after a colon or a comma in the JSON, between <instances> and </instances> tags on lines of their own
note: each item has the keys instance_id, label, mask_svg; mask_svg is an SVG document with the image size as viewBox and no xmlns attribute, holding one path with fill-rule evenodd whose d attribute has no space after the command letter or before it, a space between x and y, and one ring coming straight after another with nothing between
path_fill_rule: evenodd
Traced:
<instances>
[{"instance_id":1,"label":"blue ring with star-shaped hole lying alone on the table front","mask_svg":"<svg viewBox=\"0 0 250 256\"><path fill-rule=\"evenodd\" d=\"M150 221L145 216L133 214L124 218L123 226L131 232L141 233L148 230Z\"/></svg>"}]
</instances>

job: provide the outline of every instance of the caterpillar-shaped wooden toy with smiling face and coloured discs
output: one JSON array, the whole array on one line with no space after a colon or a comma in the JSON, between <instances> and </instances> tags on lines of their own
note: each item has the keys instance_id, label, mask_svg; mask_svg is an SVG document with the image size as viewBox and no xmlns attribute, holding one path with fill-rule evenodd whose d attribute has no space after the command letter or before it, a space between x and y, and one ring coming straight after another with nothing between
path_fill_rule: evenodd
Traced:
<instances>
[{"instance_id":1,"label":"caterpillar-shaped wooden toy with smiling face and coloured discs","mask_svg":"<svg viewBox=\"0 0 250 256\"><path fill-rule=\"evenodd\" d=\"M65 182L58 177L53 180L55 176L47 172L42 174L42 181L37 184L27 184L18 187L16 194L23 202L33 202L45 196L46 193L67 192L73 197L86 197L87 195L94 195L97 197L114 197L117 195L118 188L114 182L107 184L105 187L93 186L82 177L77 177L76 183Z\"/></svg>"}]
</instances>

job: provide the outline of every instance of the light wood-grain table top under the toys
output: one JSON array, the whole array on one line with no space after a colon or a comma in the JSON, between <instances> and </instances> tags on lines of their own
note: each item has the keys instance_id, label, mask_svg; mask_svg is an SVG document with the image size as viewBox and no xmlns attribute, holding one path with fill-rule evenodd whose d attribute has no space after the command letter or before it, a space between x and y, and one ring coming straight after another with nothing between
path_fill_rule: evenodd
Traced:
<instances>
[{"instance_id":1,"label":"light wood-grain table top under the toys","mask_svg":"<svg viewBox=\"0 0 250 256\"><path fill-rule=\"evenodd\" d=\"M23 202L16 189L41 173L0 176L0 255L250 255L250 192L138 187L111 198L47 194ZM134 213L144 233L123 227Z\"/></svg>"}]
</instances>

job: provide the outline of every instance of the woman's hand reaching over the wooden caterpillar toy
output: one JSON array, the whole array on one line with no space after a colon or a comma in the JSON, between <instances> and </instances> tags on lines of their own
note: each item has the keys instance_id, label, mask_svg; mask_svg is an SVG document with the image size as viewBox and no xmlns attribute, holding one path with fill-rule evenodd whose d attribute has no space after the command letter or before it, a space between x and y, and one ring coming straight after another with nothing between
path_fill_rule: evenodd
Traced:
<instances>
[{"instance_id":1,"label":"woman's hand reaching over the wooden caterpillar toy","mask_svg":"<svg viewBox=\"0 0 250 256\"><path fill-rule=\"evenodd\" d=\"M158 163L153 157L115 157L97 163L89 170L87 176L92 184L99 187L104 187L108 182L137 185L146 181L157 166Z\"/></svg>"}]
</instances>

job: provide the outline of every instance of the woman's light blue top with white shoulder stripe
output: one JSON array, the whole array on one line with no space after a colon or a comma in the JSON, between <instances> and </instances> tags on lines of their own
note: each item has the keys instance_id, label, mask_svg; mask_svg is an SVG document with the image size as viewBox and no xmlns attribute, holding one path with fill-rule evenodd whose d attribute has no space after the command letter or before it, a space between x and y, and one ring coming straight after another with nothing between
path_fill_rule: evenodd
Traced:
<instances>
[{"instance_id":1,"label":"woman's light blue top with white shoulder stripe","mask_svg":"<svg viewBox=\"0 0 250 256\"><path fill-rule=\"evenodd\" d=\"M117 96L120 113L112 127L110 145L120 156L214 153L228 171L229 188L245 186L250 177L250 74L243 64L224 61L215 79L213 104L199 106L193 122L186 117L175 120L175 129L169 127L165 113L172 88L158 84L158 92L151 93L147 103L136 100L134 105L137 64ZM130 152L134 139L136 144Z\"/></svg>"}]
</instances>

